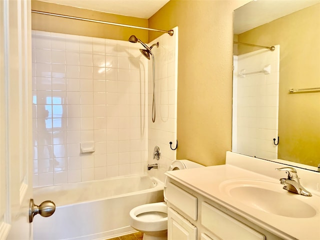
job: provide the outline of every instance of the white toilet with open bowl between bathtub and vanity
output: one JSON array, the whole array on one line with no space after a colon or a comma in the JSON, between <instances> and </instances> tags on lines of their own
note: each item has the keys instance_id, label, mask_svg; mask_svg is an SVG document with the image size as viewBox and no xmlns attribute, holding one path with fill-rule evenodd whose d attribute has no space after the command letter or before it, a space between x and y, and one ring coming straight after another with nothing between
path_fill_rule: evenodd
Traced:
<instances>
[{"instance_id":1,"label":"white toilet with open bowl between bathtub and vanity","mask_svg":"<svg viewBox=\"0 0 320 240\"><path fill-rule=\"evenodd\" d=\"M202 167L203 165L198 164L189 160L174 160L172 161L170 170L180 170L186 168ZM164 201L165 198L165 185L164 181ZM143 240L166 240L167 239L167 205L165 202L155 202L143 204L134 207L130 210L130 225L143 232Z\"/></svg>"}]
</instances>

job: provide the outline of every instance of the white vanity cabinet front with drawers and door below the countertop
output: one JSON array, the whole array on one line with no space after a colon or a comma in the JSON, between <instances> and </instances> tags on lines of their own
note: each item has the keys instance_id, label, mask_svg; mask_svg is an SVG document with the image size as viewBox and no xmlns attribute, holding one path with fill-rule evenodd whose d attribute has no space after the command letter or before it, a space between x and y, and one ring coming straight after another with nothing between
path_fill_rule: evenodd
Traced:
<instances>
[{"instance_id":1,"label":"white vanity cabinet front with drawers and door below the countertop","mask_svg":"<svg viewBox=\"0 0 320 240\"><path fill-rule=\"evenodd\" d=\"M281 239L173 179L165 191L168 240Z\"/></svg>"}]
</instances>

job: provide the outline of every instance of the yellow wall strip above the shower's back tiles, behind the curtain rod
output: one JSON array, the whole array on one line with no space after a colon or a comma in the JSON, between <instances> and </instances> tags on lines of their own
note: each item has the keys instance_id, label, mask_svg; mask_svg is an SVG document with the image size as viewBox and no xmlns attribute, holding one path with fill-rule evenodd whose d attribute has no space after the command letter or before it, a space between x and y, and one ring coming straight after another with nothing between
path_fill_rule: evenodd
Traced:
<instances>
[{"instance_id":1,"label":"yellow wall strip above the shower's back tiles, behind the curtain rod","mask_svg":"<svg viewBox=\"0 0 320 240\"><path fill-rule=\"evenodd\" d=\"M100 21L110 21L121 24L148 27L148 20L143 18L104 13L37 0L31 1L31 8L32 10L38 11L46 11ZM57 16L43 15L39 13L32 13L31 24L33 30L52 31L82 36L103 37L117 40L128 40L129 36L134 34L142 41L148 42L147 30L67 19Z\"/></svg>"}]
</instances>

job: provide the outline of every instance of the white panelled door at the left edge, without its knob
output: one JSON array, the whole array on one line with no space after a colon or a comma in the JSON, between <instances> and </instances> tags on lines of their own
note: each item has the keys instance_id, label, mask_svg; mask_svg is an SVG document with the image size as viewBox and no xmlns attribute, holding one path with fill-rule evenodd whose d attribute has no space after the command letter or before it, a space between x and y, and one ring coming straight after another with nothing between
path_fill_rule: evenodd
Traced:
<instances>
[{"instance_id":1,"label":"white panelled door at the left edge, without its knob","mask_svg":"<svg viewBox=\"0 0 320 240\"><path fill-rule=\"evenodd\" d=\"M0 0L0 239L31 239L31 1Z\"/></svg>"}]
</instances>

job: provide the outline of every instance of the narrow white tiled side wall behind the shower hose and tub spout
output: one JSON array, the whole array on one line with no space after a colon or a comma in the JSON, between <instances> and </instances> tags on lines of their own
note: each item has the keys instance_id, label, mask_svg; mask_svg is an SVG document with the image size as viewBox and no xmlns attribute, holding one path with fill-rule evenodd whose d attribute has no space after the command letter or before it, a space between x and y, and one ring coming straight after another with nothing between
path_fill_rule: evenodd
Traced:
<instances>
[{"instance_id":1,"label":"narrow white tiled side wall behind the shower hose and tub spout","mask_svg":"<svg viewBox=\"0 0 320 240\"><path fill-rule=\"evenodd\" d=\"M177 106L177 42L178 27L174 27L174 34L163 34L149 44L159 42L152 52L155 58L155 121L151 120L152 109L152 64L148 64L148 154L149 164L158 163L158 169L151 169L149 173L164 181L172 160L176 159L176 150L170 149L176 145L176 106ZM161 157L153 159L153 148L160 147Z\"/></svg>"}]
</instances>

